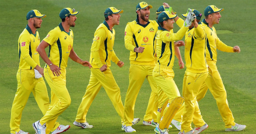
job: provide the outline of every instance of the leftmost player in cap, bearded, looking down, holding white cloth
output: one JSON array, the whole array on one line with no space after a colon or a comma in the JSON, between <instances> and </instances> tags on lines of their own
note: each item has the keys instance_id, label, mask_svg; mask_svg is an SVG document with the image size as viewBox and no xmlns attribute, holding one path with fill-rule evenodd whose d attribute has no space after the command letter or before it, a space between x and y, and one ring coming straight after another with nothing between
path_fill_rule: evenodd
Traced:
<instances>
[{"instance_id":1,"label":"leftmost player in cap, bearded, looking down, holding white cloth","mask_svg":"<svg viewBox=\"0 0 256 134\"><path fill-rule=\"evenodd\" d=\"M29 11L26 16L28 25L18 39L20 65L16 76L17 92L11 108L11 134L28 134L28 132L20 130L20 121L22 111L26 106L31 92L43 115L46 114L50 106L46 84L42 78L43 68L40 67L39 54L37 52L37 47L40 43L37 28L41 28L43 17L46 17L46 15L41 14L36 9ZM69 125L64 126L55 123L52 128L52 134L64 132L69 127Z\"/></svg>"}]
</instances>

